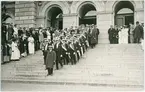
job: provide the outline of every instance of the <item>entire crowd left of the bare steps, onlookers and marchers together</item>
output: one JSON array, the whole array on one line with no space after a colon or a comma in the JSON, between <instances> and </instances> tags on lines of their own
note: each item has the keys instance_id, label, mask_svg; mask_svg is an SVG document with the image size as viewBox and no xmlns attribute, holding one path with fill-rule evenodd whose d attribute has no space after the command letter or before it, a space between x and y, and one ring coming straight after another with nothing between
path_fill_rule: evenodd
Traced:
<instances>
[{"instance_id":1,"label":"entire crowd left of the bare steps, onlookers and marchers together","mask_svg":"<svg viewBox=\"0 0 145 92\"><path fill-rule=\"evenodd\" d=\"M48 75L52 75L54 65L57 70L63 65L75 65L89 47L94 48L98 43L99 29L96 25L72 26L63 30L18 28L17 25L3 23L1 34L2 63L13 61L13 56L14 60L20 60L42 50Z\"/></svg>"}]
</instances>

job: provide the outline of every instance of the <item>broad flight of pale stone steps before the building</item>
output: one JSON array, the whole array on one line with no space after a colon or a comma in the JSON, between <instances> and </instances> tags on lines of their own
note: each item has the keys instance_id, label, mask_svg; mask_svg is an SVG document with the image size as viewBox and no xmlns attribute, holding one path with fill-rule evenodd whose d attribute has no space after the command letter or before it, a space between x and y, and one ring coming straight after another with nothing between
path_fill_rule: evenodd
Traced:
<instances>
[{"instance_id":1,"label":"broad flight of pale stone steps before the building","mask_svg":"<svg viewBox=\"0 0 145 92\"><path fill-rule=\"evenodd\" d=\"M2 84L23 82L143 89L143 57L138 44L98 44L76 65L65 65L55 70L53 76L46 76L42 52L38 51L33 56L2 65Z\"/></svg>"}]
</instances>

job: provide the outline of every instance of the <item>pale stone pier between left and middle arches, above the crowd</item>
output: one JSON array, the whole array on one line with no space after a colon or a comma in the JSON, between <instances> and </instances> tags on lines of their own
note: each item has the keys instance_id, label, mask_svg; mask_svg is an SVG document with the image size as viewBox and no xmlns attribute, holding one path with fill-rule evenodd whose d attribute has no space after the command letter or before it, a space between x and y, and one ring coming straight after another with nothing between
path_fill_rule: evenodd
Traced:
<instances>
[{"instance_id":1,"label":"pale stone pier between left and middle arches, above the crowd","mask_svg":"<svg viewBox=\"0 0 145 92\"><path fill-rule=\"evenodd\" d=\"M63 28L70 26L78 26L79 19L78 14L64 14L63 15Z\"/></svg>"}]
</instances>

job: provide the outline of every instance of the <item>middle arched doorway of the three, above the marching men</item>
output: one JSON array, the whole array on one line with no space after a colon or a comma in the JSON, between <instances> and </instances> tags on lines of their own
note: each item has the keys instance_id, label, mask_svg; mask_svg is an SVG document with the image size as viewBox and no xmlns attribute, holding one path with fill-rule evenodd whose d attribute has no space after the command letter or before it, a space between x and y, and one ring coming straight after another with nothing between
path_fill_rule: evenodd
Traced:
<instances>
[{"instance_id":1,"label":"middle arched doorway of the three, above the marching men","mask_svg":"<svg viewBox=\"0 0 145 92\"><path fill-rule=\"evenodd\" d=\"M96 25L96 8L94 5L86 3L79 9L79 25L81 24Z\"/></svg>"}]
</instances>

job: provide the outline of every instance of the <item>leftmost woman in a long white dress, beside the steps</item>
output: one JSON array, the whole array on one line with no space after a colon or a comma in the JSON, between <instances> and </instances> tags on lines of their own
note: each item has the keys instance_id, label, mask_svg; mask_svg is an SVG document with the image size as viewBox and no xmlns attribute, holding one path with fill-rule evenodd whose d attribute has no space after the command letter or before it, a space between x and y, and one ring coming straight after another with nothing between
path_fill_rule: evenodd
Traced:
<instances>
[{"instance_id":1,"label":"leftmost woman in a long white dress, beside the steps","mask_svg":"<svg viewBox=\"0 0 145 92\"><path fill-rule=\"evenodd\" d=\"M11 47L12 47L11 60L19 60L20 59L20 51L18 49L18 44L17 44L16 39L13 39Z\"/></svg>"}]
</instances>

